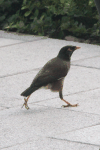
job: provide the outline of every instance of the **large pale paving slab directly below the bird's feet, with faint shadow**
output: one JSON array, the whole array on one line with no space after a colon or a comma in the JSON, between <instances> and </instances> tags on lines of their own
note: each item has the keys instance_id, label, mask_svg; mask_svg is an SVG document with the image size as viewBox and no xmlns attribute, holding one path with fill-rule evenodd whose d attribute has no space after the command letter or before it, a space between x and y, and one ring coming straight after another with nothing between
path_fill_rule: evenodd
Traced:
<instances>
[{"instance_id":1,"label":"large pale paving slab directly below the bird's feet, with faint shadow","mask_svg":"<svg viewBox=\"0 0 100 150\"><path fill-rule=\"evenodd\" d=\"M97 125L100 116L63 109L32 105L31 110L20 107L0 111L0 149L25 143L35 135L59 137L89 126ZM81 140L80 140L81 141Z\"/></svg>"}]
</instances>

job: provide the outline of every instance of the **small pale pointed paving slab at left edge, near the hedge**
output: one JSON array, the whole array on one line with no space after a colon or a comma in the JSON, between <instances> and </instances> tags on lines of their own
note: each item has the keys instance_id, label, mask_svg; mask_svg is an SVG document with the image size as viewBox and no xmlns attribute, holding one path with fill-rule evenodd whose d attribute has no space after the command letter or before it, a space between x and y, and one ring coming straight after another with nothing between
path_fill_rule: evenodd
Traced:
<instances>
[{"instance_id":1,"label":"small pale pointed paving slab at left edge, near the hedge","mask_svg":"<svg viewBox=\"0 0 100 150\"><path fill-rule=\"evenodd\" d=\"M23 41L21 41L21 40L12 40L12 39L0 38L0 51L1 51L1 47L3 47L3 46L19 44L19 43L22 43L22 42ZM8 49L8 47L7 47L7 49Z\"/></svg>"}]
</instances>

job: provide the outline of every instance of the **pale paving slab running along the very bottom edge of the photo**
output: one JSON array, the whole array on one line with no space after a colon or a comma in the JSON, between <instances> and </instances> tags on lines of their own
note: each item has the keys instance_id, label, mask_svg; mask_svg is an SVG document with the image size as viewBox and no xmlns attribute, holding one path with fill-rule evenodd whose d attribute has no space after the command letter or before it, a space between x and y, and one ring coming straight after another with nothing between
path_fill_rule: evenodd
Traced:
<instances>
[{"instance_id":1,"label":"pale paving slab running along the very bottom edge of the photo","mask_svg":"<svg viewBox=\"0 0 100 150\"><path fill-rule=\"evenodd\" d=\"M29 139L27 142L12 145L11 147L3 148L4 150L99 150L98 146L75 143L66 140L57 140L52 138L44 138L35 136L34 139Z\"/></svg>"}]
</instances>

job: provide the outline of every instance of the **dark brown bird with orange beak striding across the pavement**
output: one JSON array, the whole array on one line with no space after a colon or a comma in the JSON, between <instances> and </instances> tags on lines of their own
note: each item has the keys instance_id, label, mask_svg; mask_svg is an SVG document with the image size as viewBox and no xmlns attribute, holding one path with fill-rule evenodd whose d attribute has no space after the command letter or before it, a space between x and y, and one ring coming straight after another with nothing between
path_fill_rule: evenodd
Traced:
<instances>
[{"instance_id":1,"label":"dark brown bird with orange beak striding across the pavement","mask_svg":"<svg viewBox=\"0 0 100 150\"><path fill-rule=\"evenodd\" d=\"M37 73L35 78L33 79L31 85L21 93L21 96L24 96L24 104L25 108L28 110L28 99L33 92L44 87L46 89L50 89L53 92L59 92L59 97L63 100L67 105L63 105L63 107L76 107L78 104L70 104L63 98L63 83L64 78L69 72L71 56L73 52L81 47L67 45L60 49L58 55L55 58L49 60L42 69ZM23 107L22 106L22 107Z\"/></svg>"}]
</instances>

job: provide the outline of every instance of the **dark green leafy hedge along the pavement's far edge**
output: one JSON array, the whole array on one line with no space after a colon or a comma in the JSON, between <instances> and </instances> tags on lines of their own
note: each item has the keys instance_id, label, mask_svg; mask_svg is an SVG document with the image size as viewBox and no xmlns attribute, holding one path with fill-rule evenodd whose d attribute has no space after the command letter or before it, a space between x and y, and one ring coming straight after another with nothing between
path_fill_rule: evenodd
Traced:
<instances>
[{"instance_id":1,"label":"dark green leafy hedge along the pavement's far edge","mask_svg":"<svg viewBox=\"0 0 100 150\"><path fill-rule=\"evenodd\" d=\"M94 0L1 0L0 28L55 38L100 36Z\"/></svg>"}]
</instances>

